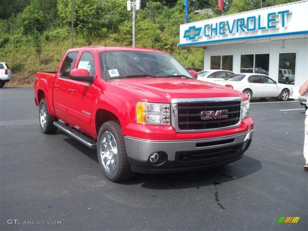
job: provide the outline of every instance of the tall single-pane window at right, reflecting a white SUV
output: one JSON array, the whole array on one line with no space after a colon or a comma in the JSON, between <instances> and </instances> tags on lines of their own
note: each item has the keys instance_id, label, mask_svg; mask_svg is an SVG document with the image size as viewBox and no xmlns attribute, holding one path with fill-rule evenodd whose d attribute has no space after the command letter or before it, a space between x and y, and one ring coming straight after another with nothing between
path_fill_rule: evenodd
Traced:
<instances>
[{"instance_id":1,"label":"tall single-pane window at right, reflecting a white SUV","mask_svg":"<svg viewBox=\"0 0 308 231\"><path fill-rule=\"evenodd\" d=\"M285 84L295 83L296 53L280 53L278 82Z\"/></svg>"}]
</instances>

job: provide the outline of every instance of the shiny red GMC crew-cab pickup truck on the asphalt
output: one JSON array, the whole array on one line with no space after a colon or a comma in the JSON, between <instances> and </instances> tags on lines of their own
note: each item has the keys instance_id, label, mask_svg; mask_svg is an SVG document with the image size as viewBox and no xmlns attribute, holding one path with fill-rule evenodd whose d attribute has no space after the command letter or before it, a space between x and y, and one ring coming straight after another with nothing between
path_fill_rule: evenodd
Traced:
<instances>
[{"instance_id":1,"label":"shiny red GMC crew-cab pickup truck on the asphalt","mask_svg":"<svg viewBox=\"0 0 308 231\"><path fill-rule=\"evenodd\" d=\"M41 129L97 149L112 181L240 159L253 135L248 97L191 73L153 49L70 49L57 72L35 75Z\"/></svg>"}]
</instances>

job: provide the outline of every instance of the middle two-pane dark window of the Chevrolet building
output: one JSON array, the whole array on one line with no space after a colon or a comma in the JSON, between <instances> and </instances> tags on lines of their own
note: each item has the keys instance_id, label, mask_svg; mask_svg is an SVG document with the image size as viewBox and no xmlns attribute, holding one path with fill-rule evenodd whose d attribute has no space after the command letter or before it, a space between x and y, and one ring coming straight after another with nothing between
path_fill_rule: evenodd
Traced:
<instances>
[{"instance_id":1,"label":"middle two-pane dark window of the Chevrolet building","mask_svg":"<svg viewBox=\"0 0 308 231\"><path fill-rule=\"evenodd\" d=\"M270 54L241 55L241 73L269 75Z\"/></svg>"}]
</instances>

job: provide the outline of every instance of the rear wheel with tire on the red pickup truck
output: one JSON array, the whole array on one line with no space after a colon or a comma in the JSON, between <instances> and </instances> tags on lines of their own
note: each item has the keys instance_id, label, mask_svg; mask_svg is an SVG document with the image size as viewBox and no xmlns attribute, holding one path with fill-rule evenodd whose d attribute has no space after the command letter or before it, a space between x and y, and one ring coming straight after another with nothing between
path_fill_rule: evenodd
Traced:
<instances>
[{"instance_id":1,"label":"rear wheel with tire on the red pickup truck","mask_svg":"<svg viewBox=\"0 0 308 231\"><path fill-rule=\"evenodd\" d=\"M46 115L44 116L46 118L45 123L42 123L42 121L41 121L41 113L42 113L43 107L46 109L46 111L45 111ZM49 114L46 99L42 99L41 102L39 103L39 125L42 129L42 132L45 133L45 134L55 133L58 129L53 124L53 122L55 122L55 121L58 121L58 118Z\"/></svg>"}]
</instances>

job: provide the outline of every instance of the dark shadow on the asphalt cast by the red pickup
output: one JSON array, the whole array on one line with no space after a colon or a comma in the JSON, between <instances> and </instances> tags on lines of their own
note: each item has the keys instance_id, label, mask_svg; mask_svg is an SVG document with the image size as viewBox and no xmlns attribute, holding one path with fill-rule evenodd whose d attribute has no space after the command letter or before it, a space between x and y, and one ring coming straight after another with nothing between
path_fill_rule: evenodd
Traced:
<instances>
[{"instance_id":1,"label":"dark shadow on the asphalt cast by the red pickup","mask_svg":"<svg viewBox=\"0 0 308 231\"><path fill-rule=\"evenodd\" d=\"M64 139L68 144L78 149L84 155L94 160L100 168L96 150L91 150L74 138ZM183 189L199 188L207 185L219 185L221 183L240 179L249 176L262 168L262 163L249 155L249 151L244 156L225 166L205 169L201 171L169 173L169 174L140 174L136 173L129 180L118 182L122 185L141 184L143 188L149 189ZM104 177L103 173L99 177ZM104 179L108 181L107 179Z\"/></svg>"}]
</instances>

